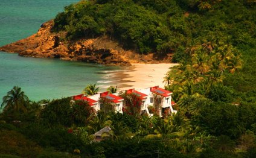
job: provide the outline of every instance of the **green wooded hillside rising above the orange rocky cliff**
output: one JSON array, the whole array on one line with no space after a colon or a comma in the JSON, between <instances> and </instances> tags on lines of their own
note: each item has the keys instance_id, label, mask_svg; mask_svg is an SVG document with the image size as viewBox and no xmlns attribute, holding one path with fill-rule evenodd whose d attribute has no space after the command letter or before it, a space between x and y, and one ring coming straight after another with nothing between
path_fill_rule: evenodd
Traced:
<instances>
[{"instance_id":1,"label":"green wooded hillside rising above the orange rocky cliff","mask_svg":"<svg viewBox=\"0 0 256 158\"><path fill-rule=\"evenodd\" d=\"M80 1L56 16L54 31L72 39L107 35L141 53L179 54L207 40L254 45L255 8L238 0Z\"/></svg>"}]
</instances>

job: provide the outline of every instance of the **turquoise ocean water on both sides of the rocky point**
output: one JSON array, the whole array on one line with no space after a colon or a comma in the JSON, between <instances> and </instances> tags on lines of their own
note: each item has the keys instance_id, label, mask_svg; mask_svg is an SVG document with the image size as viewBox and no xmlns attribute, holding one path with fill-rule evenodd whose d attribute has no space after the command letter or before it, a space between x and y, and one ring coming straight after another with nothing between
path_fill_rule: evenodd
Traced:
<instances>
[{"instance_id":1,"label":"turquoise ocean water on both sides of the rocky point","mask_svg":"<svg viewBox=\"0 0 256 158\"><path fill-rule=\"evenodd\" d=\"M0 46L36 33L63 7L78 0L1 0ZM120 68L48 58L25 58L0 52L0 103L13 86L33 101L81 93L90 83L109 86L109 71Z\"/></svg>"}]
</instances>

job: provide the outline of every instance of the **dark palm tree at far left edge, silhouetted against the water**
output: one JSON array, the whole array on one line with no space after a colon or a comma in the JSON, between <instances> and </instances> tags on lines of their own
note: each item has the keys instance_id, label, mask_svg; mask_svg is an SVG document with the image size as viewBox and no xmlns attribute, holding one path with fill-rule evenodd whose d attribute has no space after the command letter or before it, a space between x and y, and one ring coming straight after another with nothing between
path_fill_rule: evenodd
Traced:
<instances>
[{"instance_id":1,"label":"dark palm tree at far left edge, silhouetted against the water","mask_svg":"<svg viewBox=\"0 0 256 158\"><path fill-rule=\"evenodd\" d=\"M4 110L14 110L14 112L27 112L28 96L21 90L21 87L14 86L6 96L2 98L1 107Z\"/></svg>"}]
</instances>

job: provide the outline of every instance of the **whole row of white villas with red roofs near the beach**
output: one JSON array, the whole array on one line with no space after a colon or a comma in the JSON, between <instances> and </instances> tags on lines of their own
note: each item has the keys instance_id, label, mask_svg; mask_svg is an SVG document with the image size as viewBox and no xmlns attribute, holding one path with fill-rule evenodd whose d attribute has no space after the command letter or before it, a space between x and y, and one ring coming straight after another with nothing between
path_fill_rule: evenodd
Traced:
<instances>
[{"instance_id":1,"label":"whole row of white villas with red roofs near the beach","mask_svg":"<svg viewBox=\"0 0 256 158\"><path fill-rule=\"evenodd\" d=\"M171 94L172 92L162 89L159 86L155 87L149 87L146 89L141 90L135 90L135 89L129 89L126 90L126 93L135 93L135 95L139 96L142 100L141 105L141 114L146 113L150 117L153 116L153 113L149 112L148 107L154 106L154 97L158 96L158 98L161 98L161 106L159 107L159 116L162 117L165 110L167 110L170 113L176 113L176 110L173 110L173 105L175 104L173 101L171 101ZM92 96L83 96L81 95L75 95L73 96L74 100L84 100L87 101L89 106L94 107L96 111L102 109L102 105L98 102L100 98L106 98L110 102L115 104L115 112L123 113L123 101L124 99L118 96L118 93L109 93L109 92L102 92L98 93Z\"/></svg>"}]
</instances>

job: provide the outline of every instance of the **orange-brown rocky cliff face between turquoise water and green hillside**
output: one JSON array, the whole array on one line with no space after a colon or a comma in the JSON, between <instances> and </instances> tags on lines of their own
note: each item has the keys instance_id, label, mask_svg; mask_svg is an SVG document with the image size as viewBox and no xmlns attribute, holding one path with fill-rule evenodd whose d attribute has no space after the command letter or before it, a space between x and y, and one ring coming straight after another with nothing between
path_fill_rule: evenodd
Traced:
<instances>
[{"instance_id":1,"label":"orange-brown rocky cliff face between turquoise water and green hillside","mask_svg":"<svg viewBox=\"0 0 256 158\"><path fill-rule=\"evenodd\" d=\"M108 37L65 41L65 33L52 33L53 21L42 24L32 36L0 47L0 51L15 52L24 57L60 58L106 65L130 66L130 63L170 62L171 54L155 57L125 51Z\"/></svg>"}]
</instances>

